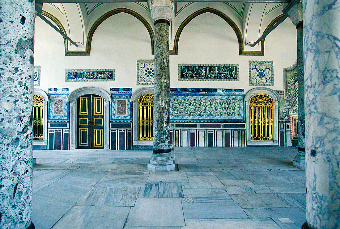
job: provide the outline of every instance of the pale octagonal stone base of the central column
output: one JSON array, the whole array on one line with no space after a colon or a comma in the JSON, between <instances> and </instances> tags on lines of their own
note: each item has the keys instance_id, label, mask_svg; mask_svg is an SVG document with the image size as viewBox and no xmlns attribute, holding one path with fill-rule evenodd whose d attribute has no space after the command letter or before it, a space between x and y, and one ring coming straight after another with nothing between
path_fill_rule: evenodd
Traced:
<instances>
[{"instance_id":1,"label":"pale octagonal stone base of the central column","mask_svg":"<svg viewBox=\"0 0 340 229\"><path fill-rule=\"evenodd\" d=\"M155 151L155 150L154 150ZM173 171L176 169L175 161L168 153L152 153L150 161L148 163L148 169L152 171Z\"/></svg>"}]
</instances>

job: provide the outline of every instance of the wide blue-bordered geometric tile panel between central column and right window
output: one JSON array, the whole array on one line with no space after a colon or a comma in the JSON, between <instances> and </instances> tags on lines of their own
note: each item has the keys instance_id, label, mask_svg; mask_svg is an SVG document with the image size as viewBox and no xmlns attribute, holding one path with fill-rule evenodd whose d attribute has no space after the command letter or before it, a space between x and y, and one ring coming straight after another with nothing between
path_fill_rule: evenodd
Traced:
<instances>
[{"instance_id":1,"label":"wide blue-bordered geometric tile panel between central column and right window","mask_svg":"<svg viewBox=\"0 0 340 229\"><path fill-rule=\"evenodd\" d=\"M170 89L171 121L244 121L243 89Z\"/></svg>"}]
</instances>

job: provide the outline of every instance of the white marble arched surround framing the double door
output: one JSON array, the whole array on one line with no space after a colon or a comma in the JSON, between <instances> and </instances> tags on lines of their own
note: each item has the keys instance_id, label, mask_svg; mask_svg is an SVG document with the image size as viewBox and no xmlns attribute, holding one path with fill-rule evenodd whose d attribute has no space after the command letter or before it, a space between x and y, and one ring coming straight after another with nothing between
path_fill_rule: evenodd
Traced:
<instances>
[{"instance_id":1,"label":"white marble arched surround framing the double door","mask_svg":"<svg viewBox=\"0 0 340 229\"><path fill-rule=\"evenodd\" d=\"M84 87L74 90L67 97L70 102L70 149L75 149L77 135L75 134L77 126L77 99L82 95L94 94L104 98L104 149L109 149L109 115L111 96L104 89L97 87Z\"/></svg>"}]
</instances>

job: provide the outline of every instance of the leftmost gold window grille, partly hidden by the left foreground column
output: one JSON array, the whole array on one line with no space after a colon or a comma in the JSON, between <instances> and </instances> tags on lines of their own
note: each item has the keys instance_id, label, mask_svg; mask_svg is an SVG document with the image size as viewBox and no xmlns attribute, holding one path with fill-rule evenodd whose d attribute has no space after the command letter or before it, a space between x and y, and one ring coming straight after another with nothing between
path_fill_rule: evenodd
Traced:
<instances>
[{"instance_id":1,"label":"leftmost gold window grille, partly hidden by the left foreground column","mask_svg":"<svg viewBox=\"0 0 340 229\"><path fill-rule=\"evenodd\" d=\"M33 140L43 140L44 134L44 99L33 95Z\"/></svg>"}]
</instances>

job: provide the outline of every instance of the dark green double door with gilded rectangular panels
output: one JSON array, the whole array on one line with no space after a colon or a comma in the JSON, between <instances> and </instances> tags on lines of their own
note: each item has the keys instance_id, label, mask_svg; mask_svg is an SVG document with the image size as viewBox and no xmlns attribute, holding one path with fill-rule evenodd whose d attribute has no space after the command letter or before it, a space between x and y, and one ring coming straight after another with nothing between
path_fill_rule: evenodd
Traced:
<instances>
[{"instance_id":1,"label":"dark green double door with gilded rectangular panels","mask_svg":"<svg viewBox=\"0 0 340 229\"><path fill-rule=\"evenodd\" d=\"M103 149L104 99L96 95L84 95L78 99L79 149Z\"/></svg>"}]
</instances>

